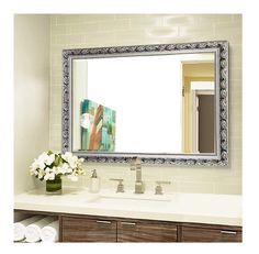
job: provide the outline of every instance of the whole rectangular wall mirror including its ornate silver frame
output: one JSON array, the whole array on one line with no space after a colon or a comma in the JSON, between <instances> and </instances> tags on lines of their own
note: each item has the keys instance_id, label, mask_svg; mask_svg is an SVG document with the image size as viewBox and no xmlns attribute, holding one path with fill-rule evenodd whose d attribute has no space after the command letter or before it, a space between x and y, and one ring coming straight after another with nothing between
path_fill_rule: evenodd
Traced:
<instances>
[{"instance_id":1,"label":"whole rectangular wall mirror including its ornate silver frame","mask_svg":"<svg viewBox=\"0 0 259 254\"><path fill-rule=\"evenodd\" d=\"M227 42L63 55L64 152L92 162L227 165Z\"/></svg>"}]
</instances>

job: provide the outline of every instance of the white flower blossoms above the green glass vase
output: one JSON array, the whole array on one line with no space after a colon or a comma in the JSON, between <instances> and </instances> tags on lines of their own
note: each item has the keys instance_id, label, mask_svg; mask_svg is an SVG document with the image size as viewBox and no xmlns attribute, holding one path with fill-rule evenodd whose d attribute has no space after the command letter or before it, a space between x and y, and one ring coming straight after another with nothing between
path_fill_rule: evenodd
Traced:
<instances>
[{"instance_id":1,"label":"white flower blossoms above the green glass vase","mask_svg":"<svg viewBox=\"0 0 259 254\"><path fill-rule=\"evenodd\" d=\"M34 159L30 167L30 174L40 180L55 180L61 176L67 176L76 181L78 176L86 174L82 163L83 158L78 158L72 153L60 154L48 151Z\"/></svg>"}]
</instances>

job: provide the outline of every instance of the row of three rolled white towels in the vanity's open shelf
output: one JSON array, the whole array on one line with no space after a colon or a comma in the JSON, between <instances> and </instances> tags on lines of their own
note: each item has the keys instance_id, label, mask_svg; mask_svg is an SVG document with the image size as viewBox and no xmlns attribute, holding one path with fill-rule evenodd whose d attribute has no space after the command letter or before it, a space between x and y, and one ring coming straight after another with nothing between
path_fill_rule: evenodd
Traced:
<instances>
[{"instance_id":1,"label":"row of three rolled white towels in the vanity's open shelf","mask_svg":"<svg viewBox=\"0 0 259 254\"><path fill-rule=\"evenodd\" d=\"M34 216L14 222L14 241L58 242L59 223L55 217Z\"/></svg>"}]
</instances>

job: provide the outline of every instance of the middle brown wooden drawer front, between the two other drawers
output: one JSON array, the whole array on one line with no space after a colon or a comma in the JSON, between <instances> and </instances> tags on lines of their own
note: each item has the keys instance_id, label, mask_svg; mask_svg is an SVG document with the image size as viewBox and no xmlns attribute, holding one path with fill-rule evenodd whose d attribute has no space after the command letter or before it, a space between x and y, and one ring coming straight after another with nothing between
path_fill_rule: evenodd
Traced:
<instances>
[{"instance_id":1,"label":"middle brown wooden drawer front, between the two other drawers","mask_svg":"<svg viewBox=\"0 0 259 254\"><path fill-rule=\"evenodd\" d=\"M119 221L117 242L177 242L177 225L170 222Z\"/></svg>"}]
</instances>

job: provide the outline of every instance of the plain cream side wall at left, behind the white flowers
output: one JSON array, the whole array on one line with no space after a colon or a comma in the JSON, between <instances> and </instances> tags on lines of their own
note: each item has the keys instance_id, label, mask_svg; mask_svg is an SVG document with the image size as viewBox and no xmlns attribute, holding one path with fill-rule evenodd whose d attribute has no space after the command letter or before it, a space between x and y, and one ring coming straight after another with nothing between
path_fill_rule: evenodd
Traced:
<instances>
[{"instance_id":1,"label":"plain cream side wall at left, behind the white flowers","mask_svg":"<svg viewBox=\"0 0 259 254\"><path fill-rule=\"evenodd\" d=\"M48 148L49 16L14 16L14 192L38 185L33 158Z\"/></svg>"}]
</instances>

